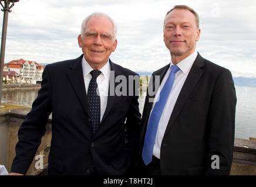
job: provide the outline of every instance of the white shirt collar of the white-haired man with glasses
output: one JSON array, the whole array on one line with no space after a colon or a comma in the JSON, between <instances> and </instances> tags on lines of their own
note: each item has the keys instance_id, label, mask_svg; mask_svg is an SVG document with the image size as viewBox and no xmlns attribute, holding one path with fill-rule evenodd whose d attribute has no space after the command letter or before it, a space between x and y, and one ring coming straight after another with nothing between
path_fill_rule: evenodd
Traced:
<instances>
[{"instance_id":1,"label":"white shirt collar of the white-haired man with glasses","mask_svg":"<svg viewBox=\"0 0 256 187\"><path fill-rule=\"evenodd\" d=\"M82 58L82 68L83 68L83 76L91 78L92 75L90 75L90 72L93 70L93 68L90 67L90 65L87 63L87 61L85 60L85 57ZM110 77L109 60L107 60L107 63L100 69L100 71L102 72L100 75L103 74L105 78L109 79Z\"/></svg>"}]
</instances>

